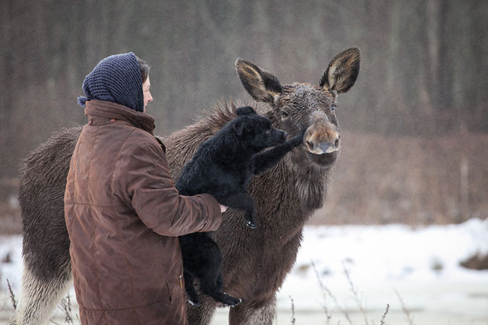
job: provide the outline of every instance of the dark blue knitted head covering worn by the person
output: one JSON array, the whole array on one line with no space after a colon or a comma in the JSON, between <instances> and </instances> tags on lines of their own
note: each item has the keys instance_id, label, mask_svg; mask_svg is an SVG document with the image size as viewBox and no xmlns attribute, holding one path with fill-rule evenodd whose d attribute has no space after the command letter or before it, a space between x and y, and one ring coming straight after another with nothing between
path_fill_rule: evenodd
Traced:
<instances>
[{"instance_id":1,"label":"dark blue knitted head covering worn by the person","mask_svg":"<svg viewBox=\"0 0 488 325\"><path fill-rule=\"evenodd\" d=\"M144 95L139 62L134 53L116 54L100 61L83 82L86 97L78 97L78 105L86 100L107 100L144 112Z\"/></svg>"}]
</instances>

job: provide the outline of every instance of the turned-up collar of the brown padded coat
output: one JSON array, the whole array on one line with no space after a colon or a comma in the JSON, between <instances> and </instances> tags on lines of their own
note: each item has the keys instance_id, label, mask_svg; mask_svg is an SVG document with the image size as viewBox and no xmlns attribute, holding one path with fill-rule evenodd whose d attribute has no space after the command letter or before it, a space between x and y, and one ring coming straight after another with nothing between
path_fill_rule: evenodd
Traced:
<instances>
[{"instance_id":1,"label":"turned-up collar of the brown padded coat","mask_svg":"<svg viewBox=\"0 0 488 325\"><path fill-rule=\"evenodd\" d=\"M154 135L154 118L142 112L105 100L89 100L86 102L85 115L88 116L89 124L96 126L109 123L111 119L125 121L136 128L146 130Z\"/></svg>"}]
</instances>

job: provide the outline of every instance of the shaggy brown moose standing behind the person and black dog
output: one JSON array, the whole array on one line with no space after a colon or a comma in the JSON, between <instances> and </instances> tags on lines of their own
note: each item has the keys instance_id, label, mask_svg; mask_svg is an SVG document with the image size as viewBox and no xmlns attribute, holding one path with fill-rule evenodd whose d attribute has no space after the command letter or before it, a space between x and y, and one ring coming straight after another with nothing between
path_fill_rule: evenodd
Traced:
<instances>
[{"instance_id":1,"label":"shaggy brown moose standing behind the person and black dog","mask_svg":"<svg viewBox=\"0 0 488 325\"><path fill-rule=\"evenodd\" d=\"M305 222L323 205L340 149L335 116L337 96L349 91L360 68L353 47L330 61L319 85L281 85L253 63L238 59L236 70L257 112L273 127L295 137L306 128L303 144L275 167L254 176L247 194L256 201L257 229L247 227L243 212L229 209L213 233L224 261L224 292L242 298L229 311L229 324L273 323L275 294L293 267ZM233 103L218 103L193 125L160 138L167 148L172 179L199 145L236 117ZM63 195L70 157L80 127L61 130L26 158L19 202L22 209L22 298L9 324L45 324L72 281L70 241ZM199 307L187 305L190 324L209 324L218 303L201 296Z\"/></svg>"}]
</instances>

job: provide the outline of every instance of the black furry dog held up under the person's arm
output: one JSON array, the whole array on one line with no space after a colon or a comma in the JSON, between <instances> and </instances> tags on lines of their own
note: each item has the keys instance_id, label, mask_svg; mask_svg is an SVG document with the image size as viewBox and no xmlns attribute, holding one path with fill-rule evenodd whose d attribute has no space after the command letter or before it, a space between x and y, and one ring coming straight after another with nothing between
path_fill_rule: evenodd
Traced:
<instances>
[{"instance_id":1,"label":"black furry dog held up under the person's arm","mask_svg":"<svg viewBox=\"0 0 488 325\"><path fill-rule=\"evenodd\" d=\"M302 144L305 130L285 142L287 133L273 128L252 107L240 107L236 113L235 119L199 146L175 186L181 195L208 193L220 204L244 210L247 225L255 228L255 202L245 194L252 175L273 167L287 152ZM275 147L259 153L269 146ZM199 305L194 277L200 280L201 292L215 301L231 306L240 303L241 299L222 292L222 253L211 234L188 234L179 240L190 303Z\"/></svg>"}]
</instances>

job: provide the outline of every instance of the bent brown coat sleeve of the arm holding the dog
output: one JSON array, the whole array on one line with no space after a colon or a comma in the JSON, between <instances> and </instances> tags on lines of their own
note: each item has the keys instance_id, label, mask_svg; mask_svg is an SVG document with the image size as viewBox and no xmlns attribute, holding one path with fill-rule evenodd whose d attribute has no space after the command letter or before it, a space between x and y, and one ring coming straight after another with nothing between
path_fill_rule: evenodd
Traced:
<instances>
[{"instance_id":1,"label":"bent brown coat sleeve of the arm holding the dog","mask_svg":"<svg viewBox=\"0 0 488 325\"><path fill-rule=\"evenodd\" d=\"M119 177L144 224L163 236L216 230L222 222L217 200L208 194L179 195L158 143L133 146L119 157Z\"/></svg>"}]
</instances>

